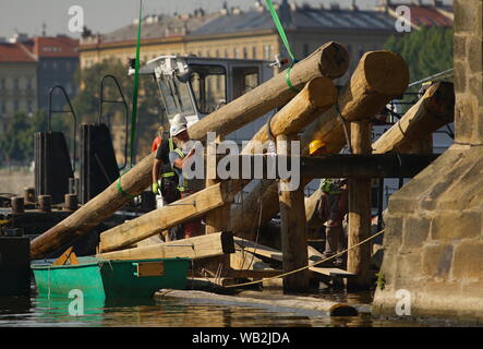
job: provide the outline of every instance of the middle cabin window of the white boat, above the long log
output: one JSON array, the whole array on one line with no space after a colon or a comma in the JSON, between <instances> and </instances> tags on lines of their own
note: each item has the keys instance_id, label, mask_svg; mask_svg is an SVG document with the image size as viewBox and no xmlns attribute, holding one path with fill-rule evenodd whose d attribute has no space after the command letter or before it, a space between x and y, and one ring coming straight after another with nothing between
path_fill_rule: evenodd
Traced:
<instances>
[{"instance_id":1,"label":"middle cabin window of the white boat, above the long log","mask_svg":"<svg viewBox=\"0 0 483 349\"><path fill-rule=\"evenodd\" d=\"M194 73L191 86L202 113L210 113L227 100L225 93L227 73L219 65L191 65Z\"/></svg>"}]
</instances>

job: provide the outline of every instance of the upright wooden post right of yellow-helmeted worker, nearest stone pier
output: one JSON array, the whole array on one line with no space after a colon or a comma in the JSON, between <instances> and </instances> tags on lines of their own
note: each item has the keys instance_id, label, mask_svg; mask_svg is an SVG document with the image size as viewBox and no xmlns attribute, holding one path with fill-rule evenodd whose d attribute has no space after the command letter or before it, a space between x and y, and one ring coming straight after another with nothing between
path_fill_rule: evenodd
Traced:
<instances>
[{"instance_id":1,"label":"upright wooden post right of yellow-helmeted worker, nearest stone pier","mask_svg":"<svg viewBox=\"0 0 483 349\"><path fill-rule=\"evenodd\" d=\"M352 154L371 154L371 123L367 120L351 122ZM371 234L371 179L350 179L349 183L349 249ZM371 243L348 252L347 270L355 278L348 279L348 289L370 288Z\"/></svg>"}]
</instances>

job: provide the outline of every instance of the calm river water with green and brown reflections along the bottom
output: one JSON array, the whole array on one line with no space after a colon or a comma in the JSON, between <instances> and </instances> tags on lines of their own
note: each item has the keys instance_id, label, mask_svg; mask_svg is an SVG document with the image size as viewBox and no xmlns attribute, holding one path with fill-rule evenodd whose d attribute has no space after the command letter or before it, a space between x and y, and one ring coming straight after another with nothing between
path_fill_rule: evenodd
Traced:
<instances>
[{"instance_id":1,"label":"calm river water with green and brown reflections along the bottom","mask_svg":"<svg viewBox=\"0 0 483 349\"><path fill-rule=\"evenodd\" d=\"M276 291L276 293L280 291ZM321 315L311 311L286 309L214 305L185 300L88 301L83 316L69 315L72 300L31 298L0 298L0 327L9 326L93 326L93 327L325 327L325 326L414 326L418 324L374 321L369 314L348 317ZM312 294L314 297L314 294ZM372 294L345 292L319 293L329 300L370 304Z\"/></svg>"}]
</instances>

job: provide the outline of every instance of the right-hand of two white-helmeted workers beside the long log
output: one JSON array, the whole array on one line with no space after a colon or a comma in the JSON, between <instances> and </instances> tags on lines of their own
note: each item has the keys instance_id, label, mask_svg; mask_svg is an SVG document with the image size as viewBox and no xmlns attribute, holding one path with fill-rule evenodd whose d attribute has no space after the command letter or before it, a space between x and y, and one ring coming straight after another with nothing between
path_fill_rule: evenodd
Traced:
<instances>
[{"instance_id":1,"label":"right-hand of two white-helmeted workers beside the long log","mask_svg":"<svg viewBox=\"0 0 483 349\"><path fill-rule=\"evenodd\" d=\"M178 191L181 198L190 196L193 191L189 188L189 182L183 176L183 168L190 166L189 159L195 154L195 148L190 146L190 136L186 124L176 124L170 129L170 135L176 144L176 148L169 153L171 167L178 174ZM201 220L193 219L184 224L184 239L198 236L201 233Z\"/></svg>"}]
</instances>

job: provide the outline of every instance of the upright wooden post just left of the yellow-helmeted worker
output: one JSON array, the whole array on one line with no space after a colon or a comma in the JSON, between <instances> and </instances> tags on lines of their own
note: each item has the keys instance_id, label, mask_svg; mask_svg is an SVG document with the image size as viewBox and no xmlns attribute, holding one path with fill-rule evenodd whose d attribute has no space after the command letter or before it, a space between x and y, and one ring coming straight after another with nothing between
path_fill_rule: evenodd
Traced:
<instances>
[{"instance_id":1,"label":"upright wooden post just left of the yellow-helmeted worker","mask_svg":"<svg viewBox=\"0 0 483 349\"><path fill-rule=\"evenodd\" d=\"M278 135L277 154L289 156L291 142L299 141L297 135ZM303 188L295 190L285 188L290 180L281 179L278 197L280 201L281 251L285 272L302 268L307 265L307 242L305 229L305 202ZM309 289L309 270L304 269L283 277L283 291L304 291Z\"/></svg>"}]
</instances>

